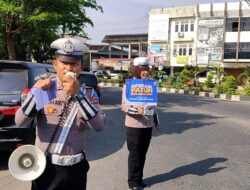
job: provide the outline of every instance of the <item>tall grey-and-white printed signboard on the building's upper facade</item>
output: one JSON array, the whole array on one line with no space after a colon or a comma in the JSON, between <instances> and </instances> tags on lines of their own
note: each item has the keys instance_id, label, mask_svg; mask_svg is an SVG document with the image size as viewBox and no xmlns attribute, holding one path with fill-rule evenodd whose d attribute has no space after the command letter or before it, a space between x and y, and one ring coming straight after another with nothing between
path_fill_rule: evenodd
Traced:
<instances>
[{"instance_id":1,"label":"tall grey-and-white printed signboard on the building's upper facade","mask_svg":"<svg viewBox=\"0 0 250 190\"><path fill-rule=\"evenodd\" d=\"M222 60L224 19L200 19L197 32L197 64Z\"/></svg>"}]
</instances>

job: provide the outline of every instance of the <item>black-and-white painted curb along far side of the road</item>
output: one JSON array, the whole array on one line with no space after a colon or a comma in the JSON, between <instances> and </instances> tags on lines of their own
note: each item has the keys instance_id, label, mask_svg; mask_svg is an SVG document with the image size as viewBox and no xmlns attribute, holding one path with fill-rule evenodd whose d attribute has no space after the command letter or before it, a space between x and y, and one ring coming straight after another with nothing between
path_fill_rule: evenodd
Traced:
<instances>
[{"instance_id":1,"label":"black-and-white painted curb along far side of the road","mask_svg":"<svg viewBox=\"0 0 250 190\"><path fill-rule=\"evenodd\" d=\"M123 84L113 84L113 83L99 83L102 87L122 87ZM241 95L229 95L229 94L218 94L212 92L202 92L202 91L193 91L193 90L184 90L176 88L161 88L158 87L158 92L165 92L171 94L186 94L186 95L195 95L201 97L208 97L220 100L234 101L234 102L250 102L250 96L241 96Z\"/></svg>"}]
</instances>

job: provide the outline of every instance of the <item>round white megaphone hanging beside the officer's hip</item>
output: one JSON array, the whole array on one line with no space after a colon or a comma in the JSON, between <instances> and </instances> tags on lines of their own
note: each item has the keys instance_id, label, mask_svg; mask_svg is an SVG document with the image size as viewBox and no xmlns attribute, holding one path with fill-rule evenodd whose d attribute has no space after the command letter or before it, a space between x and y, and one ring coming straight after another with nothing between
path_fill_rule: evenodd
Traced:
<instances>
[{"instance_id":1,"label":"round white megaphone hanging beside the officer's hip","mask_svg":"<svg viewBox=\"0 0 250 190\"><path fill-rule=\"evenodd\" d=\"M10 155L8 165L11 175L16 179L31 181L43 173L46 157L36 146L24 145Z\"/></svg>"}]
</instances>

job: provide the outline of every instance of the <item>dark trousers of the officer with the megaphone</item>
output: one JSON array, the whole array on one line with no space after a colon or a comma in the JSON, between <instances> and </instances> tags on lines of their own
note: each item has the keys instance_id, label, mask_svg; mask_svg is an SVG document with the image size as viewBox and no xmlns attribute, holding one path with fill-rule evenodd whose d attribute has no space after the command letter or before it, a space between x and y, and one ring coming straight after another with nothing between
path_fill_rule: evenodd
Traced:
<instances>
[{"instance_id":1,"label":"dark trousers of the officer with the megaphone","mask_svg":"<svg viewBox=\"0 0 250 190\"><path fill-rule=\"evenodd\" d=\"M32 181L32 190L86 190L89 163L84 158L72 166L58 166L47 156L43 174Z\"/></svg>"}]
</instances>

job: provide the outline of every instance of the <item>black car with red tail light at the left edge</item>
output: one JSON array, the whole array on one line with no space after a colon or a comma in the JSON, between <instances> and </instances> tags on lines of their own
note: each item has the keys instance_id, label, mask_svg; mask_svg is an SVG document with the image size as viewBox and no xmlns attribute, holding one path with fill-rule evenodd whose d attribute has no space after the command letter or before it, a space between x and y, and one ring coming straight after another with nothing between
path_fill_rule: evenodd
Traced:
<instances>
[{"instance_id":1,"label":"black car with red tail light at the left edge","mask_svg":"<svg viewBox=\"0 0 250 190\"><path fill-rule=\"evenodd\" d=\"M33 143L34 123L17 127L15 113L34 83L51 72L49 64L0 60L0 150Z\"/></svg>"}]
</instances>

